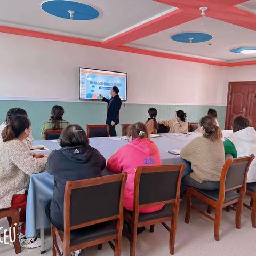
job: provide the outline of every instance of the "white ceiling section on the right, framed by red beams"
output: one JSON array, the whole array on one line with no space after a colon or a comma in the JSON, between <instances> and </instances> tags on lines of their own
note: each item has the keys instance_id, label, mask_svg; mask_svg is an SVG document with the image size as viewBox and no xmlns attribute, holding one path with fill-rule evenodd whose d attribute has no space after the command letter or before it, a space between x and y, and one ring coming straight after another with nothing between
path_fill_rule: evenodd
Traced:
<instances>
[{"instance_id":1,"label":"white ceiling section on the right, framed by red beams","mask_svg":"<svg viewBox=\"0 0 256 256\"><path fill-rule=\"evenodd\" d=\"M153 50L164 50L209 57L218 60L238 60L254 58L256 54L237 54L230 52L230 49L239 46L256 45L256 31L231 25L223 21L204 17L203 25L201 18L183 23L182 25L166 29L157 34L141 38L129 44L130 46L148 47ZM213 36L210 41L203 43L179 43L171 39L177 33L188 31L207 33Z\"/></svg>"}]
</instances>

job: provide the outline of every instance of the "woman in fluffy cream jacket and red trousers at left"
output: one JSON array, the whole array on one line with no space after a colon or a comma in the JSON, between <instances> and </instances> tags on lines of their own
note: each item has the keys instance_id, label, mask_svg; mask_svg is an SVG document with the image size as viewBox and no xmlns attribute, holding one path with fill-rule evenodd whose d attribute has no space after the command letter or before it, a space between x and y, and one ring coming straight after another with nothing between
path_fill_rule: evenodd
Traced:
<instances>
[{"instance_id":1,"label":"woman in fluffy cream jacket and red trousers at left","mask_svg":"<svg viewBox=\"0 0 256 256\"><path fill-rule=\"evenodd\" d=\"M27 189L29 175L45 170L47 157L30 152L23 143L30 133L26 116L13 116L2 131L0 141L0 209L21 209L21 247L36 248L40 239L25 236Z\"/></svg>"}]
</instances>

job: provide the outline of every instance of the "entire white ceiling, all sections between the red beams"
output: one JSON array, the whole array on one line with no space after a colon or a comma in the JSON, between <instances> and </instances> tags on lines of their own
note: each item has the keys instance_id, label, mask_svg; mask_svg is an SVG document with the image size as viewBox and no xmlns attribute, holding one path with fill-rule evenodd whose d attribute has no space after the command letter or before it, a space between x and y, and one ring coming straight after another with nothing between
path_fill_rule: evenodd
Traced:
<instances>
[{"instance_id":1,"label":"entire white ceiling, all sections between the red beams","mask_svg":"<svg viewBox=\"0 0 256 256\"><path fill-rule=\"evenodd\" d=\"M74 0L76 1L76 0ZM94 20L77 21L54 17L41 9L38 0L1 0L0 25L103 41L133 26L175 10L153 0L77 0L96 7L100 16ZM225 0L222 0L225 1ZM256 0L237 7L256 13ZM173 34L195 31L211 34L208 43L178 43ZM127 44L143 49L221 61L253 60L256 54L231 53L230 49L256 45L256 31L204 17L204 25L196 19Z\"/></svg>"}]
</instances>

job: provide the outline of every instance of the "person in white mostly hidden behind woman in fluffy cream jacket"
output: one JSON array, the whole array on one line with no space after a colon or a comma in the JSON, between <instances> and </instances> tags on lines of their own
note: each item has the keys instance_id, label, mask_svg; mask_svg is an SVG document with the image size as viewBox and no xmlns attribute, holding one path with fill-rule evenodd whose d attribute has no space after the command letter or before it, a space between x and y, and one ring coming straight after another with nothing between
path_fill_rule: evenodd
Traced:
<instances>
[{"instance_id":1,"label":"person in white mostly hidden behind woman in fluffy cream jacket","mask_svg":"<svg viewBox=\"0 0 256 256\"><path fill-rule=\"evenodd\" d=\"M16 115L28 117L28 114L27 114L26 110L24 110L22 108L11 108L11 109L9 109L8 112L7 112L5 121L0 125L0 139L2 139L2 135L1 135L2 131L9 124L10 119L13 116L16 116ZM23 140L23 142L30 149L33 145L33 141L34 141L34 139L33 139L33 136L32 136L32 131L30 130L30 133L29 133L28 137L25 140Z\"/></svg>"}]
</instances>

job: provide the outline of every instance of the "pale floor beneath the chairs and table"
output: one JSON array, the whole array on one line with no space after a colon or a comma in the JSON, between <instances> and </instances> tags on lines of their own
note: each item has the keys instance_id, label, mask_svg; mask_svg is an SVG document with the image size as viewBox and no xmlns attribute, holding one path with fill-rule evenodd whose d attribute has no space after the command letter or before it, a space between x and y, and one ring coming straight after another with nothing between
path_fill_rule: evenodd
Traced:
<instances>
[{"instance_id":1,"label":"pale floor beneath the chairs and table","mask_svg":"<svg viewBox=\"0 0 256 256\"><path fill-rule=\"evenodd\" d=\"M197 203L198 204L198 203ZM199 205L199 204L198 204ZM201 205L206 210L205 205ZM195 212L191 213L190 223L184 222L186 212L186 202L181 203L178 221L178 230L175 243L175 255L177 256L253 256L256 255L256 228L251 226L251 212L244 208L242 215L242 228L235 227L235 212L223 210L220 241L214 240L213 222ZM6 225L1 220L0 226ZM46 236L45 256L51 255L51 237ZM129 241L123 237L122 255L129 255ZM10 245L0 244L0 256L13 256L14 249ZM39 256L39 249L23 250L20 256ZM97 246L86 249L83 256L110 256L114 255L108 244L103 244L101 251ZM154 233L149 233L148 229L138 236L137 256L169 254L169 233L162 225L155 227Z\"/></svg>"}]
</instances>

